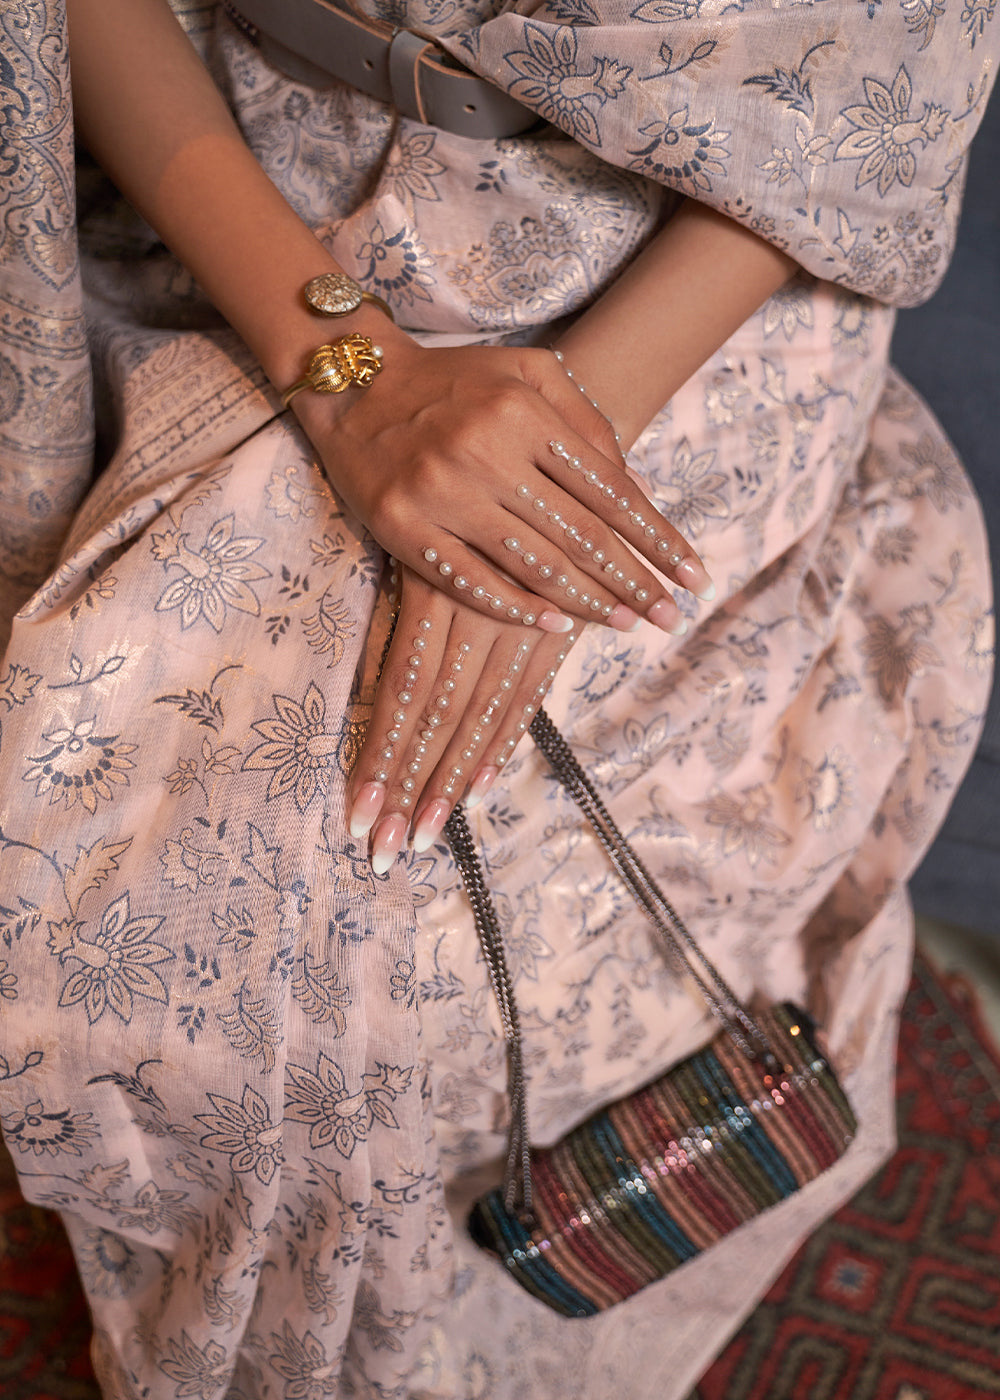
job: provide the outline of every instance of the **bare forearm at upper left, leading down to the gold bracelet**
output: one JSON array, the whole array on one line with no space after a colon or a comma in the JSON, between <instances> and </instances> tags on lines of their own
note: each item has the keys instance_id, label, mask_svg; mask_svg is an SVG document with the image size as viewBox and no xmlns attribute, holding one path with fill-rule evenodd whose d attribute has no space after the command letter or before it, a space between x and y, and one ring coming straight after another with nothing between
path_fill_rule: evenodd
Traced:
<instances>
[{"instance_id":1,"label":"bare forearm at upper left, leading down to the gold bracelet","mask_svg":"<svg viewBox=\"0 0 1000 1400\"><path fill-rule=\"evenodd\" d=\"M81 139L284 388L329 330L301 287L336 262L259 167L164 0L67 0L67 13ZM402 335L367 305L340 329Z\"/></svg>"}]
</instances>

